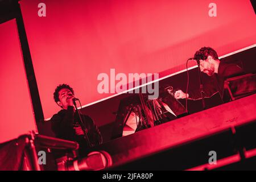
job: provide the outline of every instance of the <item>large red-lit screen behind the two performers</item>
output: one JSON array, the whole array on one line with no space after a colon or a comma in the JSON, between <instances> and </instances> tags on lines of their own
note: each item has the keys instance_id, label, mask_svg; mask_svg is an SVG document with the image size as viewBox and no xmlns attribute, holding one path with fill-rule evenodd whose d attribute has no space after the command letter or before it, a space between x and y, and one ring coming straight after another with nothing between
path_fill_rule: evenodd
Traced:
<instances>
[{"instance_id":1,"label":"large red-lit screen behind the two performers","mask_svg":"<svg viewBox=\"0 0 256 182\"><path fill-rule=\"evenodd\" d=\"M38 16L41 2L46 17ZM217 17L208 16L210 2L217 5ZM45 118L59 110L53 91L60 83L70 84L85 105L110 96L97 92L98 74L110 68L178 70L202 46L221 56L256 40L249 0L22 0L20 5Z\"/></svg>"}]
</instances>

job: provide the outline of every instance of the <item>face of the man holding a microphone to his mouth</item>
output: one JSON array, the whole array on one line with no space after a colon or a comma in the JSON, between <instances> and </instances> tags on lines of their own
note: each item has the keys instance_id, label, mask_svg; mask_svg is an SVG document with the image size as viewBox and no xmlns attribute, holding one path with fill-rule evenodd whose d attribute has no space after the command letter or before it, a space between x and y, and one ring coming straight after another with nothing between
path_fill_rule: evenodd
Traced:
<instances>
[{"instance_id":1,"label":"face of the man holding a microphone to his mouth","mask_svg":"<svg viewBox=\"0 0 256 182\"><path fill-rule=\"evenodd\" d=\"M73 106L73 94L71 90L64 88L59 91L59 100L57 104L61 106L63 109L67 109L68 106Z\"/></svg>"}]
</instances>

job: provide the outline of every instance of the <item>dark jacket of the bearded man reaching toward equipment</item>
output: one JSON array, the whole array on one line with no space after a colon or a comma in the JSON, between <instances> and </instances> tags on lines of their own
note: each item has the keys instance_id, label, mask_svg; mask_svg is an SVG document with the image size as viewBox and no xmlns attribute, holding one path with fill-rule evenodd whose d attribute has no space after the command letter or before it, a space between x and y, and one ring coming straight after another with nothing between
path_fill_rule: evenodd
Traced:
<instances>
[{"instance_id":1,"label":"dark jacket of the bearded man reaching toward equipment","mask_svg":"<svg viewBox=\"0 0 256 182\"><path fill-rule=\"evenodd\" d=\"M238 76L244 74L243 69L238 64L228 64L222 63L218 67L218 73L214 73L213 76L210 76L209 80L203 80L203 92L204 97L211 97L215 93L220 93L221 98L223 99L224 94L224 81L226 78ZM189 98L192 100L201 99L200 88L188 92Z\"/></svg>"}]
</instances>

